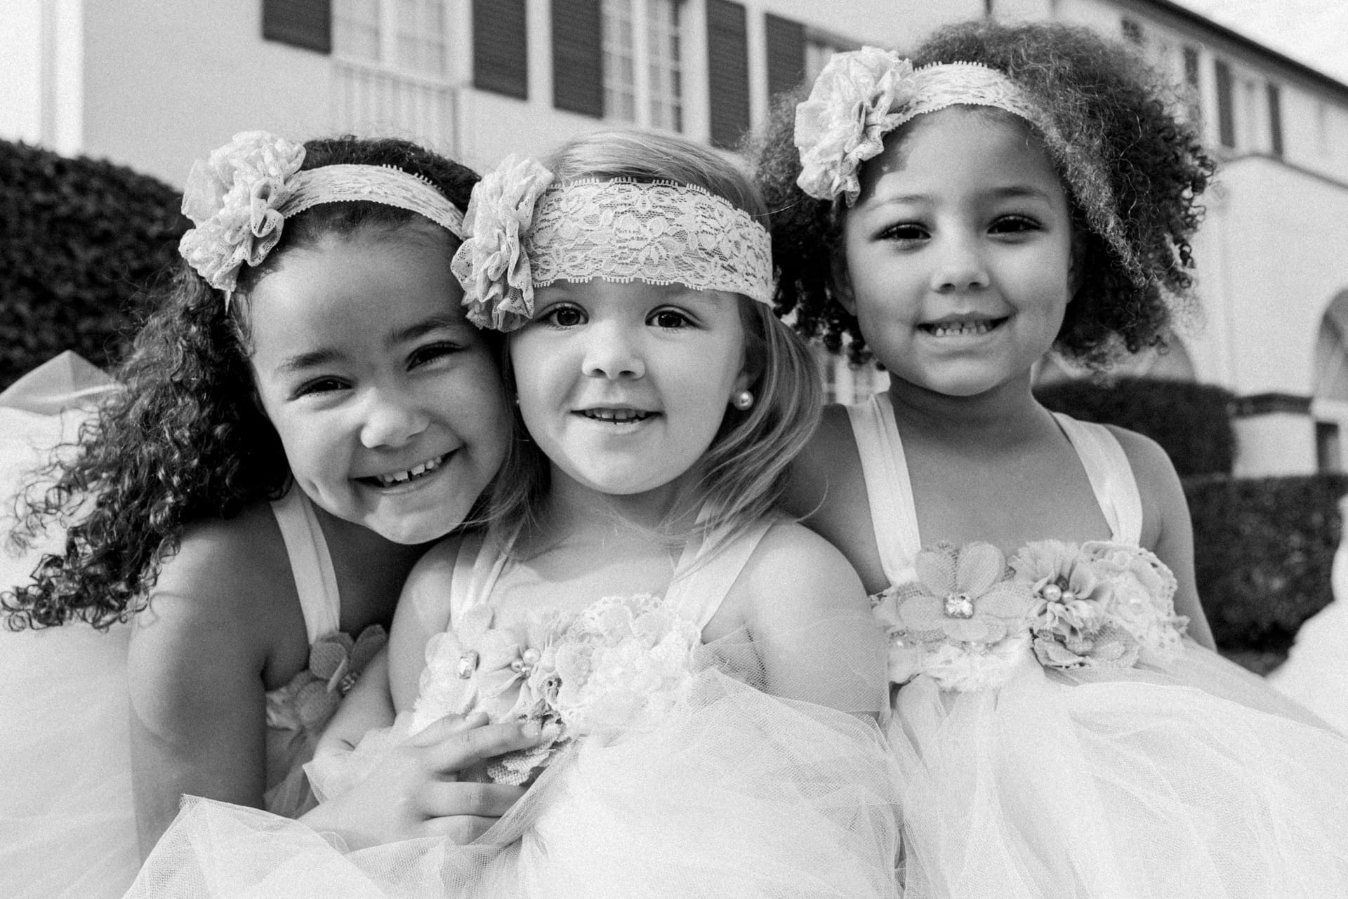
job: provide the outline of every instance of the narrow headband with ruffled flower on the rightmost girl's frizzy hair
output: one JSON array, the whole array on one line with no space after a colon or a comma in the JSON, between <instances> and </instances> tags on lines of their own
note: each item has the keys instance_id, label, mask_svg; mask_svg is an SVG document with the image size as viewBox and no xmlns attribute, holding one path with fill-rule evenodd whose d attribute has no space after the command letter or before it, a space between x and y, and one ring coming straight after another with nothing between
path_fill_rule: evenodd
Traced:
<instances>
[{"instance_id":1,"label":"narrow headband with ruffled flower on the rightmost girl's frizzy hair","mask_svg":"<svg viewBox=\"0 0 1348 899\"><path fill-rule=\"evenodd\" d=\"M1006 74L973 62L914 69L890 50L837 53L795 108L797 185L817 199L838 197L851 206L861 191L857 170L884 150L884 135L946 106L995 106L1034 125L1086 224L1104 237L1123 266L1143 278L1115 208L1113 189L1099 154L1066 140L1041 104Z\"/></svg>"}]
</instances>

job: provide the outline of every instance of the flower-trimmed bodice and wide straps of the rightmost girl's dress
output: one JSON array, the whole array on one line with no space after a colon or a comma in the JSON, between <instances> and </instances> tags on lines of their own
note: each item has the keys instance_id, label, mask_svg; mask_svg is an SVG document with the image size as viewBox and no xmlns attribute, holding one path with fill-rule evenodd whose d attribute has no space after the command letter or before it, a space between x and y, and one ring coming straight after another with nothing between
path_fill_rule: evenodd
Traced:
<instances>
[{"instance_id":1,"label":"flower-trimmed bodice and wide straps of the rightmost girl's dress","mask_svg":"<svg viewBox=\"0 0 1348 899\"><path fill-rule=\"evenodd\" d=\"M890 638L890 681L926 674L950 690L1006 683L1029 658L1050 670L1126 669L1174 658L1186 619L1174 574L1138 545L1142 500L1119 442L1058 415L1112 539L1038 540L1010 559L988 543L921 547L913 487L888 398L849 410L891 586L872 594Z\"/></svg>"}]
</instances>

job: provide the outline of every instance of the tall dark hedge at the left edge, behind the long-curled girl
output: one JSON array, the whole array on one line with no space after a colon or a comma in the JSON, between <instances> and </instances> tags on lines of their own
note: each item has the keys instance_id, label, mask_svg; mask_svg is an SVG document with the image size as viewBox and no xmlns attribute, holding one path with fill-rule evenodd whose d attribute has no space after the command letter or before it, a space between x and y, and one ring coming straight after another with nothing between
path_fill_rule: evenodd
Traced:
<instances>
[{"instance_id":1,"label":"tall dark hedge at the left edge, behind the long-curled girl","mask_svg":"<svg viewBox=\"0 0 1348 899\"><path fill-rule=\"evenodd\" d=\"M0 390L61 350L106 367L190 222L168 185L0 140Z\"/></svg>"}]
</instances>

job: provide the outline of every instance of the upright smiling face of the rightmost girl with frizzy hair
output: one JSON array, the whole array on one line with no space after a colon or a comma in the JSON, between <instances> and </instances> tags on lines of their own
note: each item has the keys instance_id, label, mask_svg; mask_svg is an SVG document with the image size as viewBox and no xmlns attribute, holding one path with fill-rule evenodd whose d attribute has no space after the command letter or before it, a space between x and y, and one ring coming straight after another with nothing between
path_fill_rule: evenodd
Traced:
<instances>
[{"instance_id":1,"label":"upright smiling face of the rightmost girl with frizzy hair","mask_svg":"<svg viewBox=\"0 0 1348 899\"><path fill-rule=\"evenodd\" d=\"M1068 199L1008 113L956 106L891 135L842 237L844 302L896 381L975 396L1027 379L1062 326Z\"/></svg>"}]
</instances>

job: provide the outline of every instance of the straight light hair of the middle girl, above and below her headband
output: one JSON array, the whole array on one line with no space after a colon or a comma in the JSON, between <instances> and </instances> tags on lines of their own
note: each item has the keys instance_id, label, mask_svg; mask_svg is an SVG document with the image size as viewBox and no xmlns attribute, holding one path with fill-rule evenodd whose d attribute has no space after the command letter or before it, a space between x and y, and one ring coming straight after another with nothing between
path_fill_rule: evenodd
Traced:
<instances>
[{"instance_id":1,"label":"straight light hair of the middle girl, above and below her headband","mask_svg":"<svg viewBox=\"0 0 1348 899\"><path fill-rule=\"evenodd\" d=\"M580 178L627 178L636 182L673 181L702 187L743 209L756 221L767 220L758 187L720 154L677 137L639 131L600 131L574 137L543 164L557 183ZM748 390L754 406L727 407L710 447L686 478L671 519L700 509L697 526L708 547L731 539L767 515L780 497L791 460L818 427L824 388L818 367L795 333L772 309L735 295L745 334L745 360L754 373ZM512 387L508 363L501 367ZM528 441L515 408L518 438L492 495L492 530L510 549L510 538L537 527L549 488L547 457ZM670 534L674 540L686 535Z\"/></svg>"}]
</instances>

